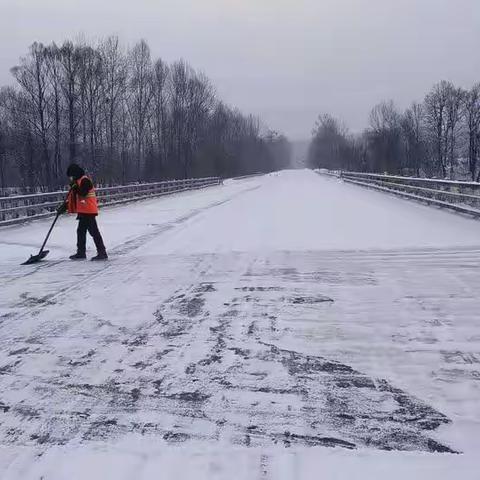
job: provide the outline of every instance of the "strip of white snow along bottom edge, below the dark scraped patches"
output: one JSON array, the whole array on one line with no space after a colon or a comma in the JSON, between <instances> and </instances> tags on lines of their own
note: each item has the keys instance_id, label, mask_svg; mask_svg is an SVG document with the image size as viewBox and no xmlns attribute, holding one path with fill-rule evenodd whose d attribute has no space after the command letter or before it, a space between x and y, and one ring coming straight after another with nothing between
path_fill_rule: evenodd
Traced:
<instances>
[{"instance_id":1,"label":"strip of white snow along bottom edge, below the dark scraped patches","mask_svg":"<svg viewBox=\"0 0 480 480\"><path fill-rule=\"evenodd\" d=\"M352 455L343 450L283 448L230 448L228 452L205 446L168 447L138 438L120 444L90 445L82 449L54 448L32 465L24 455L22 464L11 466L4 480L391 480L475 479L478 463L462 457L438 457L412 453L371 452ZM19 476L21 475L21 476Z\"/></svg>"}]
</instances>

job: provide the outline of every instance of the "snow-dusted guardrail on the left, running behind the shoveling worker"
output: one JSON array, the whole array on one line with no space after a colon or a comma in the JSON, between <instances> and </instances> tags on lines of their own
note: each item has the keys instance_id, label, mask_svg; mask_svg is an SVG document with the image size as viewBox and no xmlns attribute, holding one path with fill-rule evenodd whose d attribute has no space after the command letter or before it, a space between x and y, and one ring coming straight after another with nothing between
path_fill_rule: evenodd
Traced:
<instances>
[{"instance_id":1,"label":"snow-dusted guardrail on the left, running behind the shoveling worker","mask_svg":"<svg viewBox=\"0 0 480 480\"><path fill-rule=\"evenodd\" d=\"M97 188L96 194L99 205L107 206L196 190L220 185L221 183L222 180L218 177L169 180L139 185ZM50 217L55 214L56 208L65 200L66 195L66 191L59 191L0 197L0 227Z\"/></svg>"}]
</instances>

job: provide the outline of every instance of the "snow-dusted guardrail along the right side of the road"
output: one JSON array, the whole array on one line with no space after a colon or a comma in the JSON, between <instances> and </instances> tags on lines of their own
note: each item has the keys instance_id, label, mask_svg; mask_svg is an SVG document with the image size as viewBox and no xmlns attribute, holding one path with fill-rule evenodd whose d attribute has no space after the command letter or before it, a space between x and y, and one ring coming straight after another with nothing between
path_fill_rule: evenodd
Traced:
<instances>
[{"instance_id":1,"label":"snow-dusted guardrail along the right side of the road","mask_svg":"<svg viewBox=\"0 0 480 480\"><path fill-rule=\"evenodd\" d=\"M318 172L345 182L480 218L480 183L377 173Z\"/></svg>"}]
</instances>

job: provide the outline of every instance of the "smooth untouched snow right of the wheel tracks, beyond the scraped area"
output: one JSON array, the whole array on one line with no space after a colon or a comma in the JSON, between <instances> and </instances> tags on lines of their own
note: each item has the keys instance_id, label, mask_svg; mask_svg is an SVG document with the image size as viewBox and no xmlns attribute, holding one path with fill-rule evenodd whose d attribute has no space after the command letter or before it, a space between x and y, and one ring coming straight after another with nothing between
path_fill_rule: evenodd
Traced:
<instances>
[{"instance_id":1,"label":"smooth untouched snow right of the wheel tracks, beyond the scraped area","mask_svg":"<svg viewBox=\"0 0 480 480\"><path fill-rule=\"evenodd\" d=\"M205 232L209 232L208 235ZM311 172L267 177L234 205L173 231L158 252L370 250L479 245L480 224ZM151 245L146 247L152 252ZM157 251L155 250L155 251Z\"/></svg>"}]
</instances>

